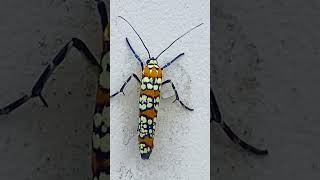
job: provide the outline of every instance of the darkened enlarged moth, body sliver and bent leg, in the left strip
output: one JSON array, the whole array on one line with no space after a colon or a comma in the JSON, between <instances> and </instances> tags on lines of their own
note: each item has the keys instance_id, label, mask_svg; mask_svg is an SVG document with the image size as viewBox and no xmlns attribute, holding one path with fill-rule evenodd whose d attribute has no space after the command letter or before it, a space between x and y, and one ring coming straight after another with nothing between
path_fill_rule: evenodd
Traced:
<instances>
[{"instance_id":1,"label":"darkened enlarged moth, body sliver and bent leg, in the left strip","mask_svg":"<svg viewBox=\"0 0 320 180\"><path fill-rule=\"evenodd\" d=\"M87 61L99 70L98 90L96 93L96 105L93 118L92 130L92 180L110 179L110 127L109 127L109 106L110 106L110 25L107 8L102 0L96 0L97 9L100 14L102 26L102 53L98 61L87 45L78 38L72 38L57 53L51 63L46 66L34 86L31 93L24 95L16 101L0 109L0 115L6 115L28 102L30 99L39 98L48 107L48 103L42 95L48 79L56 68L66 59L72 48L80 51Z\"/></svg>"}]
</instances>

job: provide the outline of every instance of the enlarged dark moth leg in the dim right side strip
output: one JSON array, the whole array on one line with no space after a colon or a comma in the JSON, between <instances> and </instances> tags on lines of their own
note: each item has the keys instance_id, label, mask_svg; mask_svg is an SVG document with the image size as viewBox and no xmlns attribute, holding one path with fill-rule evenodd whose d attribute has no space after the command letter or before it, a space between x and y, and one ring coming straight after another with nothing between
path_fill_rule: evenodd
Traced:
<instances>
[{"instance_id":1,"label":"enlarged dark moth leg in the dim right side strip","mask_svg":"<svg viewBox=\"0 0 320 180\"><path fill-rule=\"evenodd\" d=\"M223 129L223 131L228 135L228 137L236 144L239 144L243 149L248 150L253 152L254 154L257 155L267 155L268 151L267 150L262 150L262 149L258 149L248 143L246 143L245 141L243 141L242 139L240 139L232 130L231 128L222 121L221 119L221 113L216 101L216 98L214 96L213 91L210 91L210 110L211 110L211 122L215 121L216 123L218 123L220 125L220 127Z\"/></svg>"}]
</instances>

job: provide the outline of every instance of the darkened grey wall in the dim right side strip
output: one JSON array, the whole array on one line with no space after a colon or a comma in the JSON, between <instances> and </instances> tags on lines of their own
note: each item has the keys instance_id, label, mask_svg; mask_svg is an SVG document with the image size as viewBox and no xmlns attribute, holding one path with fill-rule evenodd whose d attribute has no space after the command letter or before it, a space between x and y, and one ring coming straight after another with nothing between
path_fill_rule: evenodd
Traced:
<instances>
[{"instance_id":1,"label":"darkened grey wall in the dim right side strip","mask_svg":"<svg viewBox=\"0 0 320 180\"><path fill-rule=\"evenodd\" d=\"M320 179L320 3L212 1L211 82L226 122L270 154L211 129L215 180Z\"/></svg>"}]
</instances>

